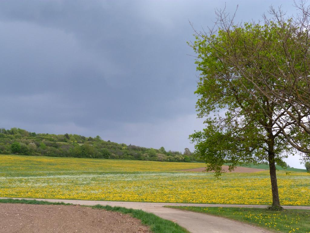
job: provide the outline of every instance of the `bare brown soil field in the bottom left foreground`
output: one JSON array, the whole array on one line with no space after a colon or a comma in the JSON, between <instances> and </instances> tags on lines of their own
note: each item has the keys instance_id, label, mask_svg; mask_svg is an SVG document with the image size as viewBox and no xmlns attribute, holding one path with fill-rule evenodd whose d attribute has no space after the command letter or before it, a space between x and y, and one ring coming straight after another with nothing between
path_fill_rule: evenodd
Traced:
<instances>
[{"instance_id":1,"label":"bare brown soil field in the bottom left foreground","mask_svg":"<svg viewBox=\"0 0 310 233\"><path fill-rule=\"evenodd\" d=\"M149 233L127 214L82 206L0 203L1 233Z\"/></svg>"}]
</instances>

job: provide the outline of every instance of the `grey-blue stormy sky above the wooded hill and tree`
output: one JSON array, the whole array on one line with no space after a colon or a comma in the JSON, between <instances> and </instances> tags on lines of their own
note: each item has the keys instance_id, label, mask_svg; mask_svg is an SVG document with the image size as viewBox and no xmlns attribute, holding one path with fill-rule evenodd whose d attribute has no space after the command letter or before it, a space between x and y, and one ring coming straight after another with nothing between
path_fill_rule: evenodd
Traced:
<instances>
[{"instance_id":1,"label":"grey-blue stormy sky above the wooded hill and tree","mask_svg":"<svg viewBox=\"0 0 310 233\"><path fill-rule=\"evenodd\" d=\"M236 21L295 12L280 0L2 0L0 127L193 151L204 125L189 21L213 26L225 2Z\"/></svg>"}]
</instances>

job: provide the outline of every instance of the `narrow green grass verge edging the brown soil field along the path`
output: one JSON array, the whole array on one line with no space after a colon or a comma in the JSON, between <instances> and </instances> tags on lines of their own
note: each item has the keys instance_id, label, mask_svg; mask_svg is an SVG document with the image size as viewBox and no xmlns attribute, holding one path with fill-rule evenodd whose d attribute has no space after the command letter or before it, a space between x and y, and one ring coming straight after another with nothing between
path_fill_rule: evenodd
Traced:
<instances>
[{"instance_id":1,"label":"narrow green grass verge edging the brown soil field along the path","mask_svg":"<svg viewBox=\"0 0 310 233\"><path fill-rule=\"evenodd\" d=\"M25 200L25 199L0 199L0 203L21 203L21 204L36 204L36 205L72 205L63 202L47 202L47 201L37 201L37 200ZM189 233L183 227L177 225L169 220L157 217L155 214L147 213L142 210L127 209L124 207L112 207L109 205L95 205L88 206L93 209L104 209L113 212L121 212L124 214L129 214L134 218L140 219L142 224L150 227L150 230L154 233Z\"/></svg>"}]
</instances>

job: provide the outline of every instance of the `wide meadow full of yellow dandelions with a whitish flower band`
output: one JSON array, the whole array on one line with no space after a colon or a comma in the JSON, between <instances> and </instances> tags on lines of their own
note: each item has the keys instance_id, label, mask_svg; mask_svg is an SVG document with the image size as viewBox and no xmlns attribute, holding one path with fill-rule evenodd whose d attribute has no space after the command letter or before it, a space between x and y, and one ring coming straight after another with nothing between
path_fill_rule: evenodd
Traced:
<instances>
[{"instance_id":1,"label":"wide meadow full of yellow dandelions with a whitish flower band","mask_svg":"<svg viewBox=\"0 0 310 233\"><path fill-rule=\"evenodd\" d=\"M0 197L271 204L269 171L181 171L202 163L0 155ZM277 171L282 205L310 205L310 174Z\"/></svg>"}]
</instances>

